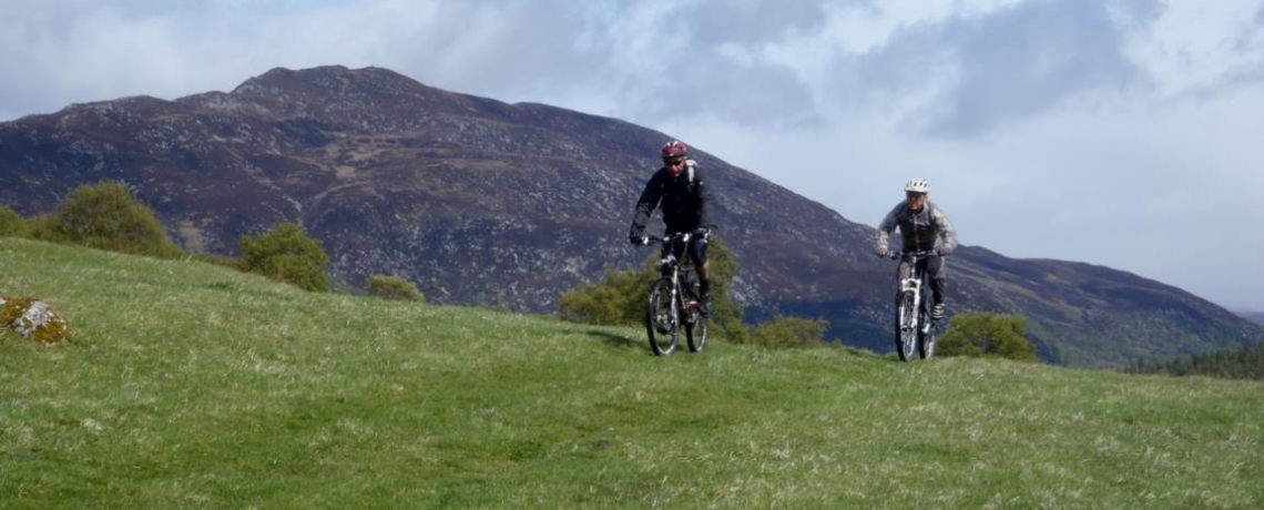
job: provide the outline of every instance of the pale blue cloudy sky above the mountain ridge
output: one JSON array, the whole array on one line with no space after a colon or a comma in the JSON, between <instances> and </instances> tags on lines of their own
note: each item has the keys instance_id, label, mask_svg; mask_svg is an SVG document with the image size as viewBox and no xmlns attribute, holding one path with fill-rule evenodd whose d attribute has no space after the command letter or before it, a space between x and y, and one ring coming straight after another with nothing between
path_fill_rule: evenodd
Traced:
<instances>
[{"instance_id":1,"label":"pale blue cloudy sky above the mountain ridge","mask_svg":"<svg viewBox=\"0 0 1264 510\"><path fill-rule=\"evenodd\" d=\"M1264 311L1264 0L0 0L0 121L327 64L622 119L871 226L923 178L962 244Z\"/></svg>"}]
</instances>

